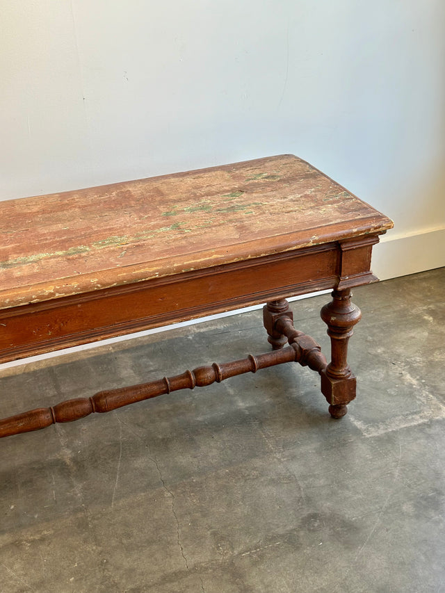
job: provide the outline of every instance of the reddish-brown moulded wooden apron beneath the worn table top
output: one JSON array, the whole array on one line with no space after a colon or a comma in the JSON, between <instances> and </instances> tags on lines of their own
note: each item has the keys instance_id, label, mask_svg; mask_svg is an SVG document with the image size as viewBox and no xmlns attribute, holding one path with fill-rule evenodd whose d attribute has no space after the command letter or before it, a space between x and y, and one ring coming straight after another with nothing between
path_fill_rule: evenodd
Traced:
<instances>
[{"instance_id":1,"label":"reddish-brown moulded wooden apron beneath the worn table top","mask_svg":"<svg viewBox=\"0 0 445 593\"><path fill-rule=\"evenodd\" d=\"M192 270L0 311L0 362L337 286L375 282L378 238ZM346 275L346 262L351 275Z\"/></svg>"}]
</instances>

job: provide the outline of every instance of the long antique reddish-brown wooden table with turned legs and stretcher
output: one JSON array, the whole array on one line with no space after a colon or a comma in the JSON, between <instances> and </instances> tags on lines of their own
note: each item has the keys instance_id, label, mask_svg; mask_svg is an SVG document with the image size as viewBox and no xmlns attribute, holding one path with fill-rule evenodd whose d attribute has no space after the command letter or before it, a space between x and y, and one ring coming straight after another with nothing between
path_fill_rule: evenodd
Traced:
<instances>
[{"instance_id":1,"label":"long antique reddish-brown wooden table with turned legs and stretcher","mask_svg":"<svg viewBox=\"0 0 445 593\"><path fill-rule=\"evenodd\" d=\"M371 250L392 222L296 156L1 202L0 225L0 362L267 302L275 351L261 356L309 364L312 352L333 416L355 397L346 349L359 311L350 288L377 279ZM293 328L284 300L322 289L334 289L322 312L329 365ZM82 413L63 409L76 417L85 401L90 412L107 411L94 398L75 401ZM56 408L44 425L76 419L58 419ZM37 416L15 432L42 428ZM0 421L0 436L14 434L10 424Z\"/></svg>"}]
</instances>

